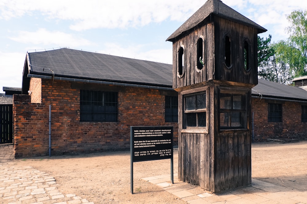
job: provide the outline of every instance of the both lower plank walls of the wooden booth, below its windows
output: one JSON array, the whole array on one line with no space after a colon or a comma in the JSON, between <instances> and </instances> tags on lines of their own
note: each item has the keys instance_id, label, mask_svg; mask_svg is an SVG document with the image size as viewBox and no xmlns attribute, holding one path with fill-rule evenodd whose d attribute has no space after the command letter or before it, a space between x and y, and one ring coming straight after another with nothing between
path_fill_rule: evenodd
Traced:
<instances>
[{"instance_id":1,"label":"both lower plank walls of the wooden booth, below its windows","mask_svg":"<svg viewBox=\"0 0 307 204\"><path fill-rule=\"evenodd\" d=\"M182 133L179 140L179 180L212 192L251 184L249 133L222 133L216 138L214 178L209 135Z\"/></svg>"}]
</instances>

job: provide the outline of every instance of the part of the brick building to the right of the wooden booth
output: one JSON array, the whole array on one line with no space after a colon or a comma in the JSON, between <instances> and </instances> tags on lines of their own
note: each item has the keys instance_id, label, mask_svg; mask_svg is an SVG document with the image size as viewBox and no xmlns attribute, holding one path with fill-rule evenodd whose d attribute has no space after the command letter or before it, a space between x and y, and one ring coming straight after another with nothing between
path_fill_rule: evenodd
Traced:
<instances>
[{"instance_id":1,"label":"part of the brick building to the right of the wooden booth","mask_svg":"<svg viewBox=\"0 0 307 204\"><path fill-rule=\"evenodd\" d=\"M307 138L307 91L258 79L252 88L254 141Z\"/></svg>"}]
</instances>

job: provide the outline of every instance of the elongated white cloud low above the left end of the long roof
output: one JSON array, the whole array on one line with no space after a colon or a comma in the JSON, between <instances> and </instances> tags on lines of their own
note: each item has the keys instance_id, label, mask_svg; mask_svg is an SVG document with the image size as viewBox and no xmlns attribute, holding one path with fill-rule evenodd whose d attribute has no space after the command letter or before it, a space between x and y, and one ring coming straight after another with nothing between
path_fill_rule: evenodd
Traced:
<instances>
[{"instance_id":1,"label":"elongated white cloud low above the left end of the long roof","mask_svg":"<svg viewBox=\"0 0 307 204\"><path fill-rule=\"evenodd\" d=\"M40 28L35 32L20 31L17 36L9 37L9 39L19 43L31 43L34 45L67 45L78 47L93 44L87 39L75 37L72 34L59 31L51 32L44 28Z\"/></svg>"}]
</instances>

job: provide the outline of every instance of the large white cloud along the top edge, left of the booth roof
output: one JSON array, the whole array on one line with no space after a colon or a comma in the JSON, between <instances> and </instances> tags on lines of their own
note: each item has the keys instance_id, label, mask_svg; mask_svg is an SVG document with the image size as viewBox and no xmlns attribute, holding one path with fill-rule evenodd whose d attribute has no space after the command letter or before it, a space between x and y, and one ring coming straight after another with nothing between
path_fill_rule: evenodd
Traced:
<instances>
[{"instance_id":1,"label":"large white cloud along the top edge, left of the booth roof","mask_svg":"<svg viewBox=\"0 0 307 204\"><path fill-rule=\"evenodd\" d=\"M133 1L41 1L4 0L0 19L41 13L48 19L72 20L70 28L126 28L162 22L166 19L186 20L204 4L203 0L133 0Z\"/></svg>"}]
</instances>

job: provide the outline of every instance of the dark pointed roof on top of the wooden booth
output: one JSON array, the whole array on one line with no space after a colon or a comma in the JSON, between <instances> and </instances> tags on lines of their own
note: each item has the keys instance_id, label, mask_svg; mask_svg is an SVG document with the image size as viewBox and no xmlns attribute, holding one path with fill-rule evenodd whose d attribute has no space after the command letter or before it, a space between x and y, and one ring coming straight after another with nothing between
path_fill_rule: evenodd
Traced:
<instances>
[{"instance_id":1,"label":"dark pointed roof on top of the wooden booth","mask_svg":"<svg viewBox=\"0 0 307 204\"><path fill-rule=\"evenodd\" d=\"M248 19L234 9L230 8L222 1L208 0L187 21L185 21L184 24L182 24L172 35L170 35L168 39L166 39L166 41L172 41L173 38L176 38L178 35L181 35L181 33L188 31L191 28L194 28L211 14L215 14L225 19L233 20L235 22L257 28L258 33L267 31L265 28L256 24L254 21Z\"/></svg>"}]
</instances>

